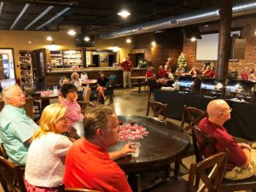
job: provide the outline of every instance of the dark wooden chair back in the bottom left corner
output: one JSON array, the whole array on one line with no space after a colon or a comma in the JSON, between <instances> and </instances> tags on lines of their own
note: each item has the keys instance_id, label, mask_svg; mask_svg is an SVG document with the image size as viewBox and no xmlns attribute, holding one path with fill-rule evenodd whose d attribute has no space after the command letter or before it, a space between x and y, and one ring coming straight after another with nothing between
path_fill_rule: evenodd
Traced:
<instances>
[{"instance_id":1,"label":"dark wooden chair back in the bottom left corner","mask_svg":"<svg viewBox=\"0 0 256 192\"><path fill-rule=\"evenodd\" d=\"M26 192L26 187L24 184L24 167L15 165L14 163L6 160L2 156L0 156L0 174L1 174L1 183L3 182L4 186L7 186L7 191L14 192ZM5 188L5 187L4 187Z\"/></svg>"}]
</instances>

